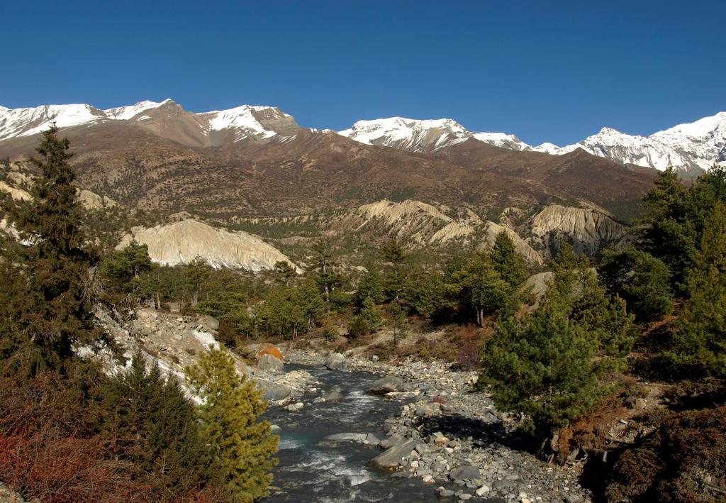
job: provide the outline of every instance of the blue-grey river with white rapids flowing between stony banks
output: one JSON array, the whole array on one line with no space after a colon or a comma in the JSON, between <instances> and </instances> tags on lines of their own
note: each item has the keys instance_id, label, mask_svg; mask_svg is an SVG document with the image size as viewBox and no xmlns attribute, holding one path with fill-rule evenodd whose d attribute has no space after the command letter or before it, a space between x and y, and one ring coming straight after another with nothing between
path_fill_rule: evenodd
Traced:
<instances>
[{"instance_id":1,"label":"blue-grey river with white rapids flowing between stony banks","mask_svg":"<svg viewBox=\"0 0 726 503\"><path fill-rule=\"evenodd\" d=\"M367 395L375 374L359 371L331 371L324 368L287 365L287 370L304 369L322 383L320 390L339 385L345 401L312 403L318 395L305 395L305 407L290 412L276 407L265 419L280 426L280 464L272 483L280 491L264 502L428 502L438 501L436 486L420 478L401 478L373 470L367 462L382 451L377 446L356 442L321 443L335 433L373 433L386 438L383 422L399 414L400 401Z\"/></svg>"}]
</instances>

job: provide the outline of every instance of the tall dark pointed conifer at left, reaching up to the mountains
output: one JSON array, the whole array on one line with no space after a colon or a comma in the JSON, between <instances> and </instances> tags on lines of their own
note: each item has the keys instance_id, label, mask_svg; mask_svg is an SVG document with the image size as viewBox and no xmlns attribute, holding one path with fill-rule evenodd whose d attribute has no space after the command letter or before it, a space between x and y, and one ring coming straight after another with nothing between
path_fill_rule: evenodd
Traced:
<instances>
[{"instance_id":1,"label":"tall dark pointed conifer at left, reaching up to the mountains","mask_svg":"<svg viewBox=\"0 0 726 503\"><path fill-rule=\"evenodd\" d=\"M46 368L65 371L73 345L99 337L91 313L97 255L81 230L68 139L60 140L57 132L56 126L43 132L36 148L41 158L30 159L41 172L33 201L14 212L28 246L7 246L4 258L22 284L12 282L17 291L8 299L15 323L2 335L1 346L14 357L12 369L31 374ZM2 289L11 286L2 283Z\"/></svg>"}]
</instances>

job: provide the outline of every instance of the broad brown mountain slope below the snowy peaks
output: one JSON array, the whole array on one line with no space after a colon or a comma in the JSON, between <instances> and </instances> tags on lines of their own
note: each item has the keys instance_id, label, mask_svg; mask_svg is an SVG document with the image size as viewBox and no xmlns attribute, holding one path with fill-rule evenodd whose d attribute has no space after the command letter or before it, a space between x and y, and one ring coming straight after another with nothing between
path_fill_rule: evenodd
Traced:
<instances>
[{"instance_id":1,"label":"broad brown mountain slope below the snowy peaks","mask_svg":"<svg viewBox=\"0 0 726 503\"><path fill-rule=\"evenodd\" d=\"M388 198L473 208L550 201L608 207L645 193L652 175L576 151L518 152L467 140L436 156L363 145L299 128L275 109L261 121L278 136L200 139L195 121L170 102L144 120L65 129L83 188L129 207L186 210L219 220L301 214ZM202 116L203 117L203 116ZM36 138L0 142L0 157L32 153Z\"/></svg>"}]
</instances>

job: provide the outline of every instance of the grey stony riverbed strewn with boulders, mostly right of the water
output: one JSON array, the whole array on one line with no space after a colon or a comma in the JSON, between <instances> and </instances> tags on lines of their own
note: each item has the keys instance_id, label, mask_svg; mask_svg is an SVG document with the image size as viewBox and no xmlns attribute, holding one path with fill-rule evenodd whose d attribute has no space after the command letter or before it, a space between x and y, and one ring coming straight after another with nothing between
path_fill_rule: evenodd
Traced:
<instances>
[{"instance_id":1,"label":"grey stony riverbed strewn with boulders, mostly right of the water","mask_svg":"<svg viewBox=\"0 0 726 503\"><path fill-rule=\"evenodd\" d=\"M365 371L390 377L373 390L398 403L388 408L394 414L383 421L381 438L370 435L370 425L358 425L346 432L347 438L333 441L378 445L377 451L370 451L368 464L390 470L391 478L416 478L431 486L432 501L591 501L589 491L578 483L578 467L547 464L523 450L507 418L499 414L486 394L471 392L475 372L454 371L439 362L389 364L354 355L331 357L294 350L287 351L285 359L314 368L327 366L340 372ZM309 376L305 371L297 372L300 377ZM304 411L306 400L325 402L326 393L330 393L311 379L305 385L298 382L295 389L305 389L306 395L295 393L287 405L281 405L289 413Z\"/></svg>"}]
</instances>

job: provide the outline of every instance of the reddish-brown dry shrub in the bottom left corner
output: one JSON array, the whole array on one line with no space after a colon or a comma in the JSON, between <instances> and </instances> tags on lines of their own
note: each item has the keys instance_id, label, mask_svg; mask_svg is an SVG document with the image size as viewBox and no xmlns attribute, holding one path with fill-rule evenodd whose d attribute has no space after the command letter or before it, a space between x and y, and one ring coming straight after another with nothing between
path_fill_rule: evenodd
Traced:
<instances>
[{"instance_id":1,"label":"reddish-brown dry shrub in the bottom left corner","mask_svg":"<svg viewBox=\"0 0 726 503\"><path fill-rule=\"evenodd\" d=\"M0 480L26 499L142 501L134 467L110 459L80 390L46 372L0 379Z\"/></svg>"}]
</instances>

